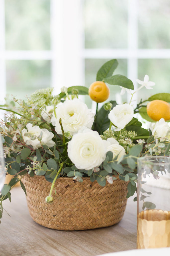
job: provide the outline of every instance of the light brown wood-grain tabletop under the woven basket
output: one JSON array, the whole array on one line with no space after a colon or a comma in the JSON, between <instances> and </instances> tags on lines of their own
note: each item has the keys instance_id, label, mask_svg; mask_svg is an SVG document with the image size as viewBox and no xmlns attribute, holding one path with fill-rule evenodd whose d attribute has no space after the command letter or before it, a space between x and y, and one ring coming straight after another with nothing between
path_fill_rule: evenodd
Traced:
<instances>
[{"instance_id":1,"label":"light brown wood-grain tabletop under the woven basket","mask_svg":"<svg viewBox=\"0 0 170 256\"><path fill-rule=\"evenodd\" d=\"M85 230L58 231L35 223L23 190L12 189L12 202L4 201L0 224L1 256L95 256L136 249L137 204L129 198L123 219L117 225Z\"/></svg>"}]
</instances>

